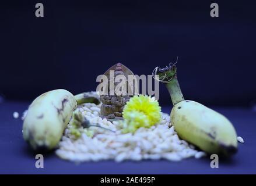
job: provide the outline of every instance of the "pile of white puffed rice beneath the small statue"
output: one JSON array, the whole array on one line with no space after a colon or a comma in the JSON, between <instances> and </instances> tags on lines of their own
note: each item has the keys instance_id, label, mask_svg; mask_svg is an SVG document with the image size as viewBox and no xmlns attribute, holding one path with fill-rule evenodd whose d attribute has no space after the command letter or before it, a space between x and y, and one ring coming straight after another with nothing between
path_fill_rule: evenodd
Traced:
<instances>
[{"instance_id":1,"label":"pile of white puffed rice beneath the small statue","mask_svg":"<svg viewBox=\"0 0 256 186\"><path fill-rule=\"evenodd\" d=\"M75 140L69 133L71 126L68 124L56 151L60 158L73 162L110 159L122 162L142 159L180 161L184 158L205 156L204 152L197 151L193 145L178 138L174 127L170 124L170 116L166 113L162 113L162 121L155 126L139 128L134 134L122 134L118 121L111 122L99 117L100 106L85 103L77 109L90 123L99 124L112 131L90 127L90 130L93 130L92 138L83 133Z\"/></svg>"}]
</instances>

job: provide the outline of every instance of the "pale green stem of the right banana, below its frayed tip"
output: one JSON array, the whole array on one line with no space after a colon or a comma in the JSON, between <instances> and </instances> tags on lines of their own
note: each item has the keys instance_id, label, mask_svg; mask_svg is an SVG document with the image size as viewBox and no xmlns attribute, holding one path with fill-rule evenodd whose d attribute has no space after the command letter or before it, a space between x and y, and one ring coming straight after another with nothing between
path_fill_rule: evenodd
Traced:
<instances>
[{"instance_id":1,"label":"pale green stem of the right banana, below its frayed tip","mask_svg":"<svg viewBox=\"0 0 256 186\"><path fill-rule=\"evenodd\" d=\"M180 84L178 84L177 76L173 77L173 79L166 84L166 88L169 91L171 96L171 102L173 105L176 105L178 102L184 101L183 94L180 90Z\"/></svg>"}]
</instances>

